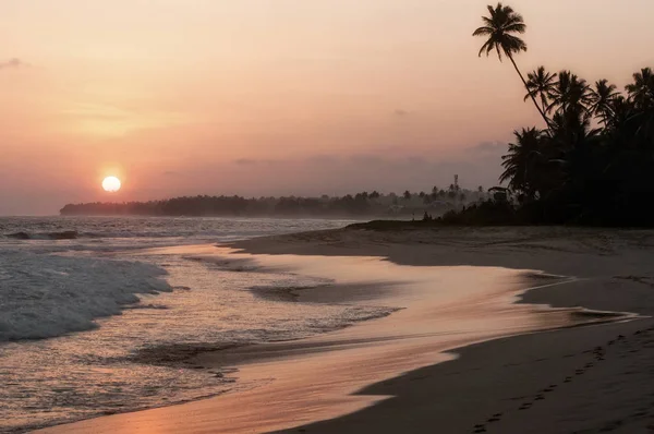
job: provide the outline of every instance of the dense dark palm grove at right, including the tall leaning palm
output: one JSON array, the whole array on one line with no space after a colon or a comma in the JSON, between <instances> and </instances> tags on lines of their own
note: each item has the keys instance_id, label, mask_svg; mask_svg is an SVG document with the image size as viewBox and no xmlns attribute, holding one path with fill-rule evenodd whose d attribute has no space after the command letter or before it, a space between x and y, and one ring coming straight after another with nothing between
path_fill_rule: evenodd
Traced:
<instances>
[{"instance_id":1,"label":"dense dark palm grove at right, including the tall leaning palm","mask_svg":"<svg viewBox=\"0 0 654 434\"><path fill-rule=\"evenodd\" d=\"M488 5L488 12L473 33L486 39L479 55L510 60L525 87L524 100L533 103L544 123L514 131L500 177L514 201L498 206L524 224L651 226L652 69L635 72L621 89L605 79L589 83L572 71L545 67L524 77L514 60L528 49L520 37L526 31L523 17L501 3Z\"/></svg>"}]
</instances>

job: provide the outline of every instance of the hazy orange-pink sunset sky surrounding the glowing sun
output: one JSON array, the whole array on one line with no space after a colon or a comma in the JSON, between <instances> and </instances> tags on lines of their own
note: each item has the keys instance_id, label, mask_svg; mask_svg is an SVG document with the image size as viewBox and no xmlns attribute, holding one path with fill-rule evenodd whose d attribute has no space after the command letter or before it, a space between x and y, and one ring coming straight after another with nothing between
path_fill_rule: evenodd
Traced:
<instances>
[{"instance_id":1,"label":"hazy orange-pink sunset sky surrounding the glowing sun","mask_svg":"<svg viewBox=\"0 0 654 434\"><path fill-rule=\"evenodd\" d=\"M0 215L496 185L512 131L543 125L510 63L477 58L487 3L2 0ZM524 72L654 67L652 0L508 3Z\"/></svg>"}]
</instances>

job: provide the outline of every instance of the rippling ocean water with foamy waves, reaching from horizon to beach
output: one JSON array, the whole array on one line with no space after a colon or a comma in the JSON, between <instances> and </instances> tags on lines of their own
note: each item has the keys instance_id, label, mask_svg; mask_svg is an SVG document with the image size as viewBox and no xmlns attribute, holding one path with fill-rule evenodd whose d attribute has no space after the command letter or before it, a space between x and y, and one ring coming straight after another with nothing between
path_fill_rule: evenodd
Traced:
<instances>
[{"instance_id":1,"label":"rippling ocean water with foamy waves, reaching from horizon to beach","mask_svg":"<svg viewBox=\"0 0 654 434\"><path fill-rule=\"evenodd\" d=\"M339 228L348 220L0 218L0 432L244 389L190 357L387 314L300 303L329 284L160 248Z\"/></svg>"}]
</instances>

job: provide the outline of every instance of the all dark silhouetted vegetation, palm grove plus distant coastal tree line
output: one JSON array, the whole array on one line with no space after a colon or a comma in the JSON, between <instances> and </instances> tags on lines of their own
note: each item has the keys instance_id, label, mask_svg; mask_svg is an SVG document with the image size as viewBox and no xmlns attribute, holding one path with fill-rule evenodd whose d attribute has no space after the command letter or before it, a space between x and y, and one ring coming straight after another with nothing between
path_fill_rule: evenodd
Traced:
<instances>
[{"instance_id":1,"label":"all dark silhouetted vegetation, palm grove plus distant coastal tree line","mask_svg":"<svg viewBox=\"0 0 654 434\"><path fill-rule=\"evenodd\" d=\"M411 222L374 222L371 227L432 225L588 225L654 224L654 73L644 68L620 92L607 80L590 84L571 71L540 67L522 74L516 55L528 47L526 25L510 7L488 7L473 36L485 38L480 50L508 59L543 125L514 131L502 157L500 182L492 196L480 191L305 198L178 197L125 204L66 205L61 214L90 215L279 215L412 216ZM484 202L485 201L485 202ZM424 214L423 214L424 213ZM436 216L436 218L432 218ZM421 217L423 217L421 219Z\"/></svg>"}]
</instances>

